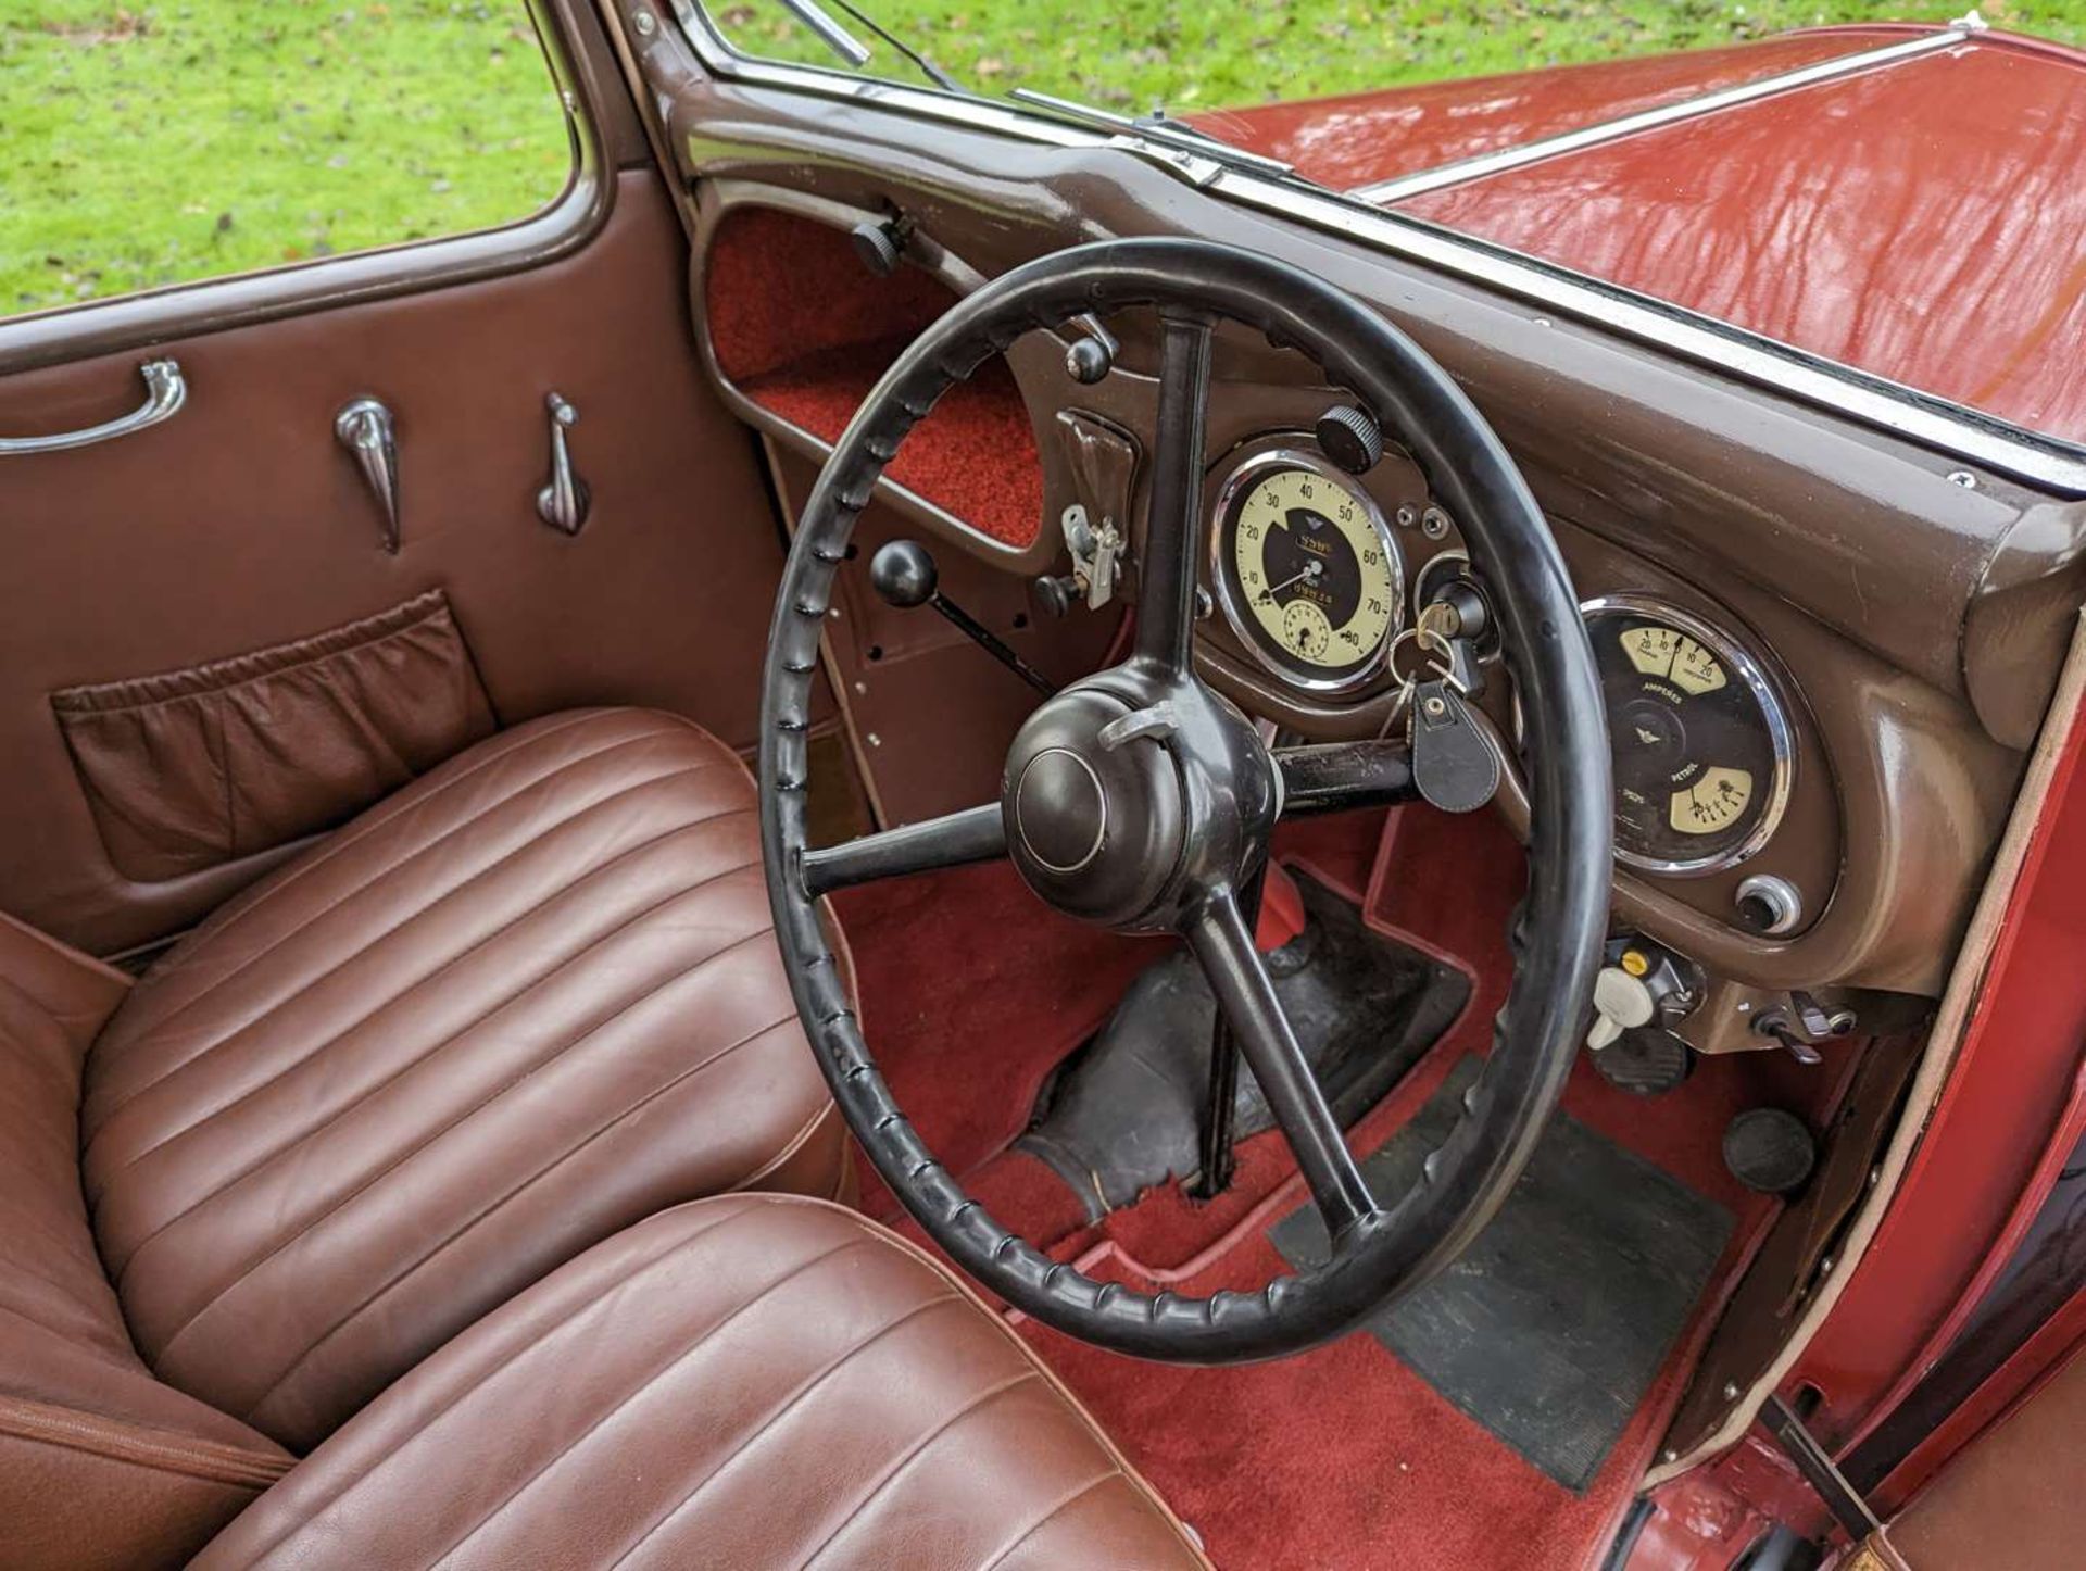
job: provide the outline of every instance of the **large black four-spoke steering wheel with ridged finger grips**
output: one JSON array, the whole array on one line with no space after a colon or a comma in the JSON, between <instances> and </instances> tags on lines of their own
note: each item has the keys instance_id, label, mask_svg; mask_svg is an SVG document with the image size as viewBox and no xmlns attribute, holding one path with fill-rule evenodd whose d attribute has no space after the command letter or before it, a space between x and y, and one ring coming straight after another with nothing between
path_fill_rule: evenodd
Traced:
<instances>
[{"instance_id":1,"label":"large black four-spoke steering wheel with ridged finger grips","mask_svg":"<svg viewBox=\"0 0 2086 1571\"><path fill-rule=\"evenodd\" d=\"M876 478L935 401L1016 338L1126 307L1156 307L1162 334L1131 655L1043 701L1008 755L1001 801L809 849L805 743L818 641ZM1400 770L1400 743L1339 749L1335 759L1335 749L1270 753L1195 674L1204 417L1220 317L1302 351L1404 442L1464 530L1521 699L1531 824L1529 891L1510 935L1514 978L1454 1133L1396 1198L1373 1195L1348 1152L1241 899L1266 862L1285 797L1291 807L1304 797L1312 807L1381 801L1385 782L1410 772ZM1018 267L928 328L855 413L797 524L768 632L759 778L776 935L843 1116L951 1258L1068 1335L1185 1362L1275 1358L1341 1335L1477 1235L1562 1095L1600 964L1610 857L1608 734L1571 580L1527 484L1456 384L1383 317L1295 267L1199 240L1110 240ZM995 1223L935 1160L862 1037L820 897L995 855L1010 855L1062 912L1187 939L1310 1185L1331 1237L1325 1264L1210 1298L1093 1281Z\"/></svg>"}]
</instances>

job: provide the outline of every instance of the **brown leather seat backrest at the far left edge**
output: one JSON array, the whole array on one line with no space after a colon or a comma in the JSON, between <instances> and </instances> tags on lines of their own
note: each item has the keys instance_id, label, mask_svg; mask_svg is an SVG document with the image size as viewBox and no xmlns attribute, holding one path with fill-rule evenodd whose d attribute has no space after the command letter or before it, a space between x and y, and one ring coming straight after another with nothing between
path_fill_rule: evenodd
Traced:
<instances>
[{"instance_id":1,"label":"brown leather seat backrest at the far left edge","mask_svg":"<svg viewBox=\"0 0 2086 1571\"><path fill-rule=\"evenodd\" d=\"M127 978L0 916L0 1563L181 1565L290 1456L161 1385L79 1185L79 1077Z\"/></svg>"}]
</instances>

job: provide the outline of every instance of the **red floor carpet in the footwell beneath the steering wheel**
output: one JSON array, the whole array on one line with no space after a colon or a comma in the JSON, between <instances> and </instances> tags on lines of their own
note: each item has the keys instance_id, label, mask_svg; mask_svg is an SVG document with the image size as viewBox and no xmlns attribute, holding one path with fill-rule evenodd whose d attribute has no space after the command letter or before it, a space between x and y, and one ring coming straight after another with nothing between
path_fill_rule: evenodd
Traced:
<instances>
[{"instance_id":1,"label":"red floor carpet in the footwell beneath the steering wheel","mask_svg":"<svg viewBox=\"0 0 2086 1571\"><path fill-rule=\"evenodd\" d=\"M1464 1054L1489 1049L1521 851L1489 814L1406 809L1387 830L1381 814L1287 826L1281 855L1366 899L1375 924L1452 958L1477 983L1464 1016L1356 1127L1352 1145L1368 1152ZM1239 1179L1218 1202L1164 1187L1097 1227L1039 1162L995 1156L1024 1127L1043 1077L1106 1018L1154 945L1049 916L1003 866L859 891L843 918L864 1026L901 1106L999 1220L1093 1275L1143 1287L1258 1287L1287 1268L1264 1231L1302 1204L1279 1133L1241 1145ZM1615 1091L1583 1064L1567 1091L1581 1122L1738 1216L1681 1346L1583 1494L1525 1463L1371 1335L1275 1364L1181 1369L1022 1329L1227 1571L1590 1565L1629 1504L1719 1294L1773 1212L1725 1173L1723 1127L1742 1108L1815 1087L1788 1081L1781 1056L1748 1054L1704 1062L1656 1102ZM895 1210L880 1187L868 1204Z\"/></svg>"}]
</instances>

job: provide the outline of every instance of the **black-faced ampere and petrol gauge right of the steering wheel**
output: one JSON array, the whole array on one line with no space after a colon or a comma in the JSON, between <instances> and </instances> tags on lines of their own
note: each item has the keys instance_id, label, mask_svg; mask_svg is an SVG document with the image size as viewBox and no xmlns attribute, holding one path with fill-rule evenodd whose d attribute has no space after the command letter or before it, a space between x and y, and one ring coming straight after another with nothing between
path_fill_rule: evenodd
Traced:
<instances>
[{"instance_id":1,"label":"black-faced ampere and petrol gauge right of the steering wheel","mask_svg":"<svg viewBox=\"0 0 2086 1571\"><path fill-rule=\"evenodd\" d=\"M1590 601L1615 757L1615 853L1648 872L1754 855L1790 795L1790 724L1727 632L1654 601Z\"/></svg>"}]
</instances>

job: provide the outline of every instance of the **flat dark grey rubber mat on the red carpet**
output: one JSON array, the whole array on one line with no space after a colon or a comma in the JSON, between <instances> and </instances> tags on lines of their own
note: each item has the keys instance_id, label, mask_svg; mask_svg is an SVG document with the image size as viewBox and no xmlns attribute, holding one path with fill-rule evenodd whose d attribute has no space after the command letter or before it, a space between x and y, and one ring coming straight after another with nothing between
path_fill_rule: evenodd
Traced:
<instances>
[{"instance_id":1,"label":"flat dark grey rubber mat on the red carpet","mask_svg":"<svg viewBox=\"0 0 2086 1571\"><path fill-rule=\"evenodd\" d=\"M1362 1162L1402 1193L1477 1079L1462 1060L1412 1122ZM1585 1490L1644 1400L1731 1237L1731 1212L1558 1116L1514 1193L1464 1256L1368 1329L1429 1385L1571 1490ZM1270 1231L1325 1260L1306 1206Z\"/></svg>"}]
</instances>

